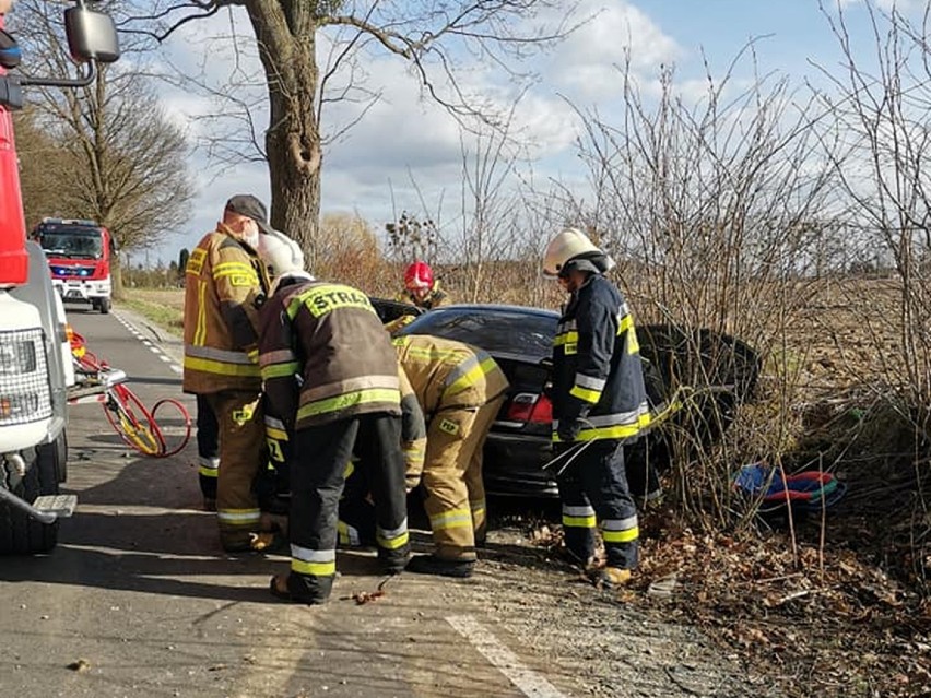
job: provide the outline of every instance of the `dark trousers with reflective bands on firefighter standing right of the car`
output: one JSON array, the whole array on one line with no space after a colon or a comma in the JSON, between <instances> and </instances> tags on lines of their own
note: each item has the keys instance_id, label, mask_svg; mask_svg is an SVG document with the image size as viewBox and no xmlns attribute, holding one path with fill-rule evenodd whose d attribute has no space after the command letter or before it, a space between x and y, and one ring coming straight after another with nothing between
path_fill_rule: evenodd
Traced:
<instances>
[{"instance_id":1,"label":"dark trousers with reflective bands on firefighter standing right of the car","mask_svg":"<svg viewBox=\"0 0 931 698\"><path fill-rule=\"evenodd\" d=\"M559 445L559 450L584 448L557 477L563 505L566 547L581 561L594 554L596 527L601 523L610 567L637 566L639 530L637 509L627 486L624 447L605 439L588 443ZM566 457L571 458L571 456Z\"/></svg>"}]
</instances>

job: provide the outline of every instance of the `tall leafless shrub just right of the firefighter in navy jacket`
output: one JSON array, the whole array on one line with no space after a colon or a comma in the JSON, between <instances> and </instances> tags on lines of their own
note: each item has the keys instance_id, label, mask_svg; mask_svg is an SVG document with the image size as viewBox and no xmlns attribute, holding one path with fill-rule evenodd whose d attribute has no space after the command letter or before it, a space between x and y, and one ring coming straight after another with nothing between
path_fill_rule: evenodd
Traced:
<instances>
[{"instance_id":1,"label":"tall leafless shrub just right of the firefighter in navy jacket","mask_svg":"<svg viewBox=\"0 0 931 698\"><path fill-rule=\"evenodd\" d=\"M755 79L740 84L733 71L747 58ZM816 241L840 213L824 156L833 144L811 128L823 111L810 95L756 72L752 44L722 79L708 72L696 100L679 94L672 68L660 73L658 98L644 97L629 69L618 70L623 108L610 117L579 110L589 186L563 192L564 215L617 255L639 320L672 326L671 336L685 342L668 377L690 388L676 400L694 415L679 435L677 493L698 510L698 493L710 493L707 511L719 525L732 514L730 468L761 453L778 462L792 438L798 364L788 358L787 333L811 300ZM771 357L778 410L755 434L755 453L697 442L730 418L714 409L710 364L740 356L709 357L695 328L735 335Z\"/></svg>"}]
</instances>

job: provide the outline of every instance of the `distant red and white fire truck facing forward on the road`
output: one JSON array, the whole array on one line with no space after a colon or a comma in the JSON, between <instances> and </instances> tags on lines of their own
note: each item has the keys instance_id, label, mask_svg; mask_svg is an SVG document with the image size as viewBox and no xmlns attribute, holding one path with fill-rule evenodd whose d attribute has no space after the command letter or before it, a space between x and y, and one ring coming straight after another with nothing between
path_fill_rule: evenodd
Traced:
<instances>
[{"instance_id":1,"label":"distant red and white fire truck facing forward on the road","mask_svg":"<svg viewBox=\"0 0 931 698\"><path fill-rule=\"evenodd\" d=\"M43 218L30 237L45 250L51 282L64 300L110 311L110 260L116 245L107 228L93 221Z\"/></svg>"}]
</instances>

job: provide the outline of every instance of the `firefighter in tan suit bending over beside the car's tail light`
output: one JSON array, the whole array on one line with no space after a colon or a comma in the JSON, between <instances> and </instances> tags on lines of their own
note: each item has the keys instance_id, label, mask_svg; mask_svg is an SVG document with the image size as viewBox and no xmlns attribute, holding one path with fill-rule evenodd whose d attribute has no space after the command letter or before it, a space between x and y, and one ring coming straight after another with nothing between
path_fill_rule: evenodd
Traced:
<instances>
[{"instance_id":1,"label":"firefighter in tan suit bending over beside the car's tail light","mask_svg":"<svg viewBox=\"0 0 931 698\"><path fill-rule=\"evenodd\" d=\"M491 356L462 342L412 334L396 339L394 347L427 421L424 508L435 545L406 569L470 577L475 541L484 540L486 528L482 447L507 378Z\"/></svg>"}]
</instances>

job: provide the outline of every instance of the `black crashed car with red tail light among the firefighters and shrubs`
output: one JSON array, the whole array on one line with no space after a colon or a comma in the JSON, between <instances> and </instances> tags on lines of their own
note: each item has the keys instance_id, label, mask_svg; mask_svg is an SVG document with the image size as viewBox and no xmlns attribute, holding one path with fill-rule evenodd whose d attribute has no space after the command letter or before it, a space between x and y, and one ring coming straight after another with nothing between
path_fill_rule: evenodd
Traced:
<instances>
[{"instance_id":1,"label":"black crashed car with red tail light among the firefighters and shrubs","mask_svg":"<svg viewBox=\"0 0 931 698\"><path fill-rule=\"evenodd\" d=\"M552 404L546 391L558 319L557 312L539 308L456 305L420 315L396 333L433 334L479 346L494 357L510 381L485 442L484 478L490 494L557 495L552 469L543 466L553 458ZM653 429L625 453L632 490L644 495L651 489L650 465L661 469L668 464L667 429L673 425L687 428L699 442L719 438L736 405L753 392L759 358L740 340L709 330L645 326L638 328L637 336L653 406L671 400L675 387L687 383L690 377L700 377L700 385L712 387L693 393L688 410L677 411L667 426Z\"/></svg>"}]
</instances>

